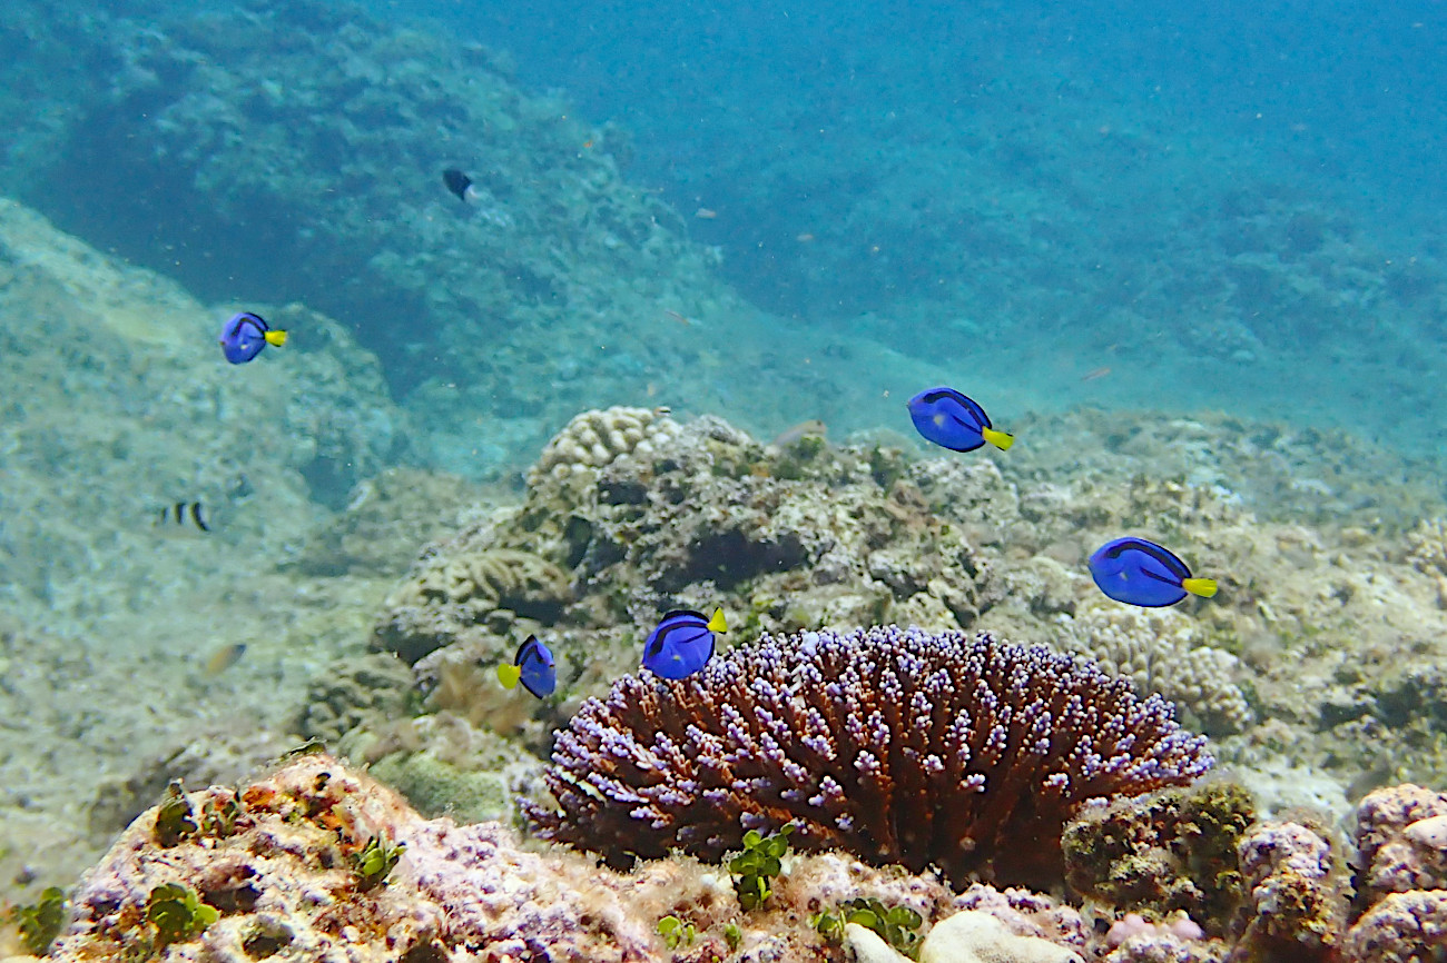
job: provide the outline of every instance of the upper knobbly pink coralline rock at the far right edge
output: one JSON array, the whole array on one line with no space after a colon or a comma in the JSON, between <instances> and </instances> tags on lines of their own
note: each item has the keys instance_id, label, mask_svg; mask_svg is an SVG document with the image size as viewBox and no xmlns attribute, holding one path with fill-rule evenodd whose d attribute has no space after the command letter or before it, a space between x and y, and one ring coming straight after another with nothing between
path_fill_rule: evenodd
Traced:
<instances>
[{"instance_id":1,"label":"upper knobbly pink coralline rock at the far right edge","mask_svg":"<svg viewBox=\"0 0 1447 963\"><path fill-rule=\"evenodd\" d=\"M1357 908L1409 889L1447 889L1447 792L1396 785L1357 807Z\"/></svg>"}]
</instances>

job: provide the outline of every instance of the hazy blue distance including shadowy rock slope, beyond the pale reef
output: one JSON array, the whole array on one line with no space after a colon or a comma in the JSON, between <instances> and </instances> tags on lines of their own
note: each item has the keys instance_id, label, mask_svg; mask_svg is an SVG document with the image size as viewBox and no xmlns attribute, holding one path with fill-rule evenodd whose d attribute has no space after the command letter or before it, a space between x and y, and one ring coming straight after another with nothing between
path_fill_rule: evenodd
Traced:
<instances>
[{"instance_id":1,"label":"hazy blue distance including shadowy rock slope, beyond the pale reef","mask_svg":"<svg viewBox=\"0 0 1447 963\"><path fill-rule=\"evenodd\" d=\"M424 461L496 474L699 351L721 367L670 403L765 431L897 427L870 399L932 377L1016 412L1205 406L1440 442L1435 4L213 10L210 33L143 3L17 17L12 90L45 108L12 103L6 184L203 299L333 314L434 421L522 416L483 464L449 442ZM423 38L379 42L395 25ZM508 143L488 111L519 95L548 117ZM654 207L550 214L599 155L606 189ZM447 208L447 165L492 178L496 210ZM660 218L684 247L627 256ZM475 260L496 278L475 288ZM702 317L721 285L742 304ZM703 325L660 331L666 311ZM527 343L543 325L563 337ZM566 403L453 350L483 341ZM770 359L778 402L752 388Z\"/></svg>"}]
</instances>

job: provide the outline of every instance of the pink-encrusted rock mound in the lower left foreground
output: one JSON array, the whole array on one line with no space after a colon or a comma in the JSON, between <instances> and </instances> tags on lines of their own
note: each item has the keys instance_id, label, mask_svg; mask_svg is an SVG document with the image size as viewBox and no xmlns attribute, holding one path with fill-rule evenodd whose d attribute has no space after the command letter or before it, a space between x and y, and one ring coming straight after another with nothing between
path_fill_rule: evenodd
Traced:
<instances>
[{"instance_id":1,"label":"pink-encrusted rock mound in the lower left foreground","mask_svg":"<svg viewBox=\"0 0 1447 963\"><path fill-rule=\"evenodd\" d=\"M234 821L207 814L239 801ZM54 947L58 960L145 953L150 891L182 883L220 920L166 960L250 960L273 953L330 963L405 960L653 960L667 912L737 911L726 879L696 863L647 863L624 876L567 853L519 849L496 823L459 827L424 820L395 792L324 755L304 756L234 794L188 795L198 830L156 842L156 810L137 818L72 896L74 917ZM405 844L385 883L366 886L356 853L369 840ZM724 951L700 933L699 949Z\"/></svg>"}]
</instances>

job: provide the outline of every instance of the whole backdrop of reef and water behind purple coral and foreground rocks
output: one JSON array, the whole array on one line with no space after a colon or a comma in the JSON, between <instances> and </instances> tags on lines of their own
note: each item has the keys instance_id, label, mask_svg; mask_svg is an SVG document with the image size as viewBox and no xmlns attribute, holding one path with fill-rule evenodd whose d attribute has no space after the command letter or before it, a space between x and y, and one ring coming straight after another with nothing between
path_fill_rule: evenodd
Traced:
<instances>
[{"instance_id":1,"label":"whole backdrop of reef and water behind purple coral and foreground rocks","mask_svg":"<svg viewBox=\"0 0 1447 963\"><path fill-rule=\"evenodd\" d=\"M512 818L671 607L1094 655L1265 811L1447 784L1444 59L1441 3L12 0L0 899L311 736ZM1126 534L1220 597L1100 597Z\"/></svg>"}]
</instances>

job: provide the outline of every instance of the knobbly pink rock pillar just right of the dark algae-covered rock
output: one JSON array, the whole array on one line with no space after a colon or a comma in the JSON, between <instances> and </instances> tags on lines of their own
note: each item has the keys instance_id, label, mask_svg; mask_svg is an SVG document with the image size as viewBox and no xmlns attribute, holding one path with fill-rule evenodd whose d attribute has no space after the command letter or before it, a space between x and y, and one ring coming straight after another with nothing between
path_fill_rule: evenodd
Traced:
<instances>
[{"instance_id":1,"label":"knobbly pink rock pillar just right of the dark algae-covered rock","mask_svg":"<svg viewBox=\"0 0 1447 963\"><path fill-rule=\"evenodd\" d=\"M1301 823L1253 826L1239 847L1253 912L1240 946L1262 959L1328 959L1347 896L1331 843Z\"/></svg>"}]
</instances>

